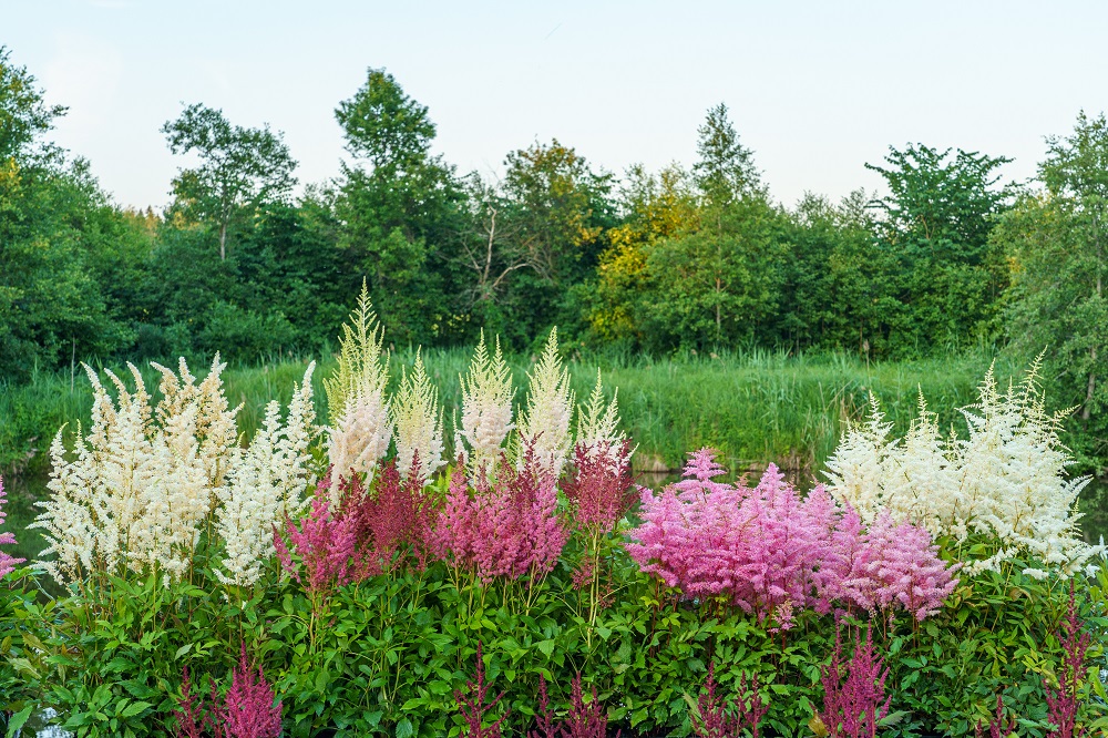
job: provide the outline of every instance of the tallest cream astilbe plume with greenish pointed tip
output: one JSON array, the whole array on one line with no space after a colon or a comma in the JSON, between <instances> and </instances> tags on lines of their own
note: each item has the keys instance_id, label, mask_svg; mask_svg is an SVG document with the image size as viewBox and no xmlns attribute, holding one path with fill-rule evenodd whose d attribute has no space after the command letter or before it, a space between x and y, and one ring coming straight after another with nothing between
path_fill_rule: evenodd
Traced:
<instances>
[{"instance_id":1,"label":"tallest cream astilbe plume with greenish pointed tip","mask_svg":"<svg viewBox=\"0 0 1108 738\"><path fill-rule=\"evenodd\" d=\"M368 484L389 450L392 421L384 396L389 381L384 329L377 321L365 283L350 321L352 327L342 326L338 368L324 380L331 421L327 452L336 476L360 473ZM338 485L331 490L337 494Z\"/></svg>"}]
</instances>

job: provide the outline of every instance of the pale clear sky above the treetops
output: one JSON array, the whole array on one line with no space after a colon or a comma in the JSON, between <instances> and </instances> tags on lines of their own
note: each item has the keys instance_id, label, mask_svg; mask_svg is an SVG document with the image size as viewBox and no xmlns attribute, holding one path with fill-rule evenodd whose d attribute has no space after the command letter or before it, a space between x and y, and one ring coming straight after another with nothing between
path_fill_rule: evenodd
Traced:
<instances>
[{"instance_id":1,"label":"pale clear sky above the treetops","mask_svg":"<svg viewBox=\"0 0 1108 738\"><path fill-rule=\"evenodd\" d=\"M125 205L161 207L183 104L284 131L301 182L338 172L336 104L384 66L459 171L557 137L622 173L695 158L724 102L771 194L873 189L922 142L1015 158L1108 109L1108 3L0 0L0 44L69 105L54 140Z\"/></svg>"}]
</instances>

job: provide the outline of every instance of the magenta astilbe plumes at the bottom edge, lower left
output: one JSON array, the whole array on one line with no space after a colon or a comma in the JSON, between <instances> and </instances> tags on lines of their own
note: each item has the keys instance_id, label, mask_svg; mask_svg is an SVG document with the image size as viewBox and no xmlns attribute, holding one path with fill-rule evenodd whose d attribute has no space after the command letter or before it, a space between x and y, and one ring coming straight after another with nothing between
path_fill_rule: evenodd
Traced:
<instances>
[{"instance_id":1,"label":"magenta astilbe plumes at the bottom edge, lower left","mask_svg":"<svg viewBox=\"0 0 1108 738\"><path fill-rule=\"evenodd\" d=\"M174 735L176 738L201 738L211 729L215 738L279 738L281 703L274 704L274 700L273 688L261 669L249 662L246 644L243 644L238 666L232 673L230 689L220 700L215 681L212 683L206 715L201 705L194 703L188 669L185 669L178 709L174 713L177 719Z\"/></svg>"}]
</instances>

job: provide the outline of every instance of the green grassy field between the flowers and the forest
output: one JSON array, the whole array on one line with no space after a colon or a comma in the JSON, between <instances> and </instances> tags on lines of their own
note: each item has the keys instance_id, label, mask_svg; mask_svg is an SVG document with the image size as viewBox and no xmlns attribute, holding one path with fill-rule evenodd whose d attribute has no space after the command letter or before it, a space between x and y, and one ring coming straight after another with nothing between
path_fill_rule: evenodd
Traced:
<instances>
[{"instance_id":1,"label":"green grassy field between the flowers and the forest","mask_svg":"<svg viewBox=\"0 0 1108 738\"><path fill-rule=\"evenodd\" d=\"M393 355L394 381L411 353ZM447 435L452 437L452 414L460 406L459 373L470 352L441 350L425 355L428 373L438 383L445 409ZM512 357L516 402L524 399L526 371L533 357ZM899 430L915 413L922 389L929 407L945 424L960 420L957 408L974 401L976 387L993 357L966 353L916 362L868 363L843 356L789 357L749 352L720 357L688 356L665 360L627 357L573 357L571 372L578 397L587 396L599 368L605 387L619 388L624 427L638 444L639 471L665 473L679 469L685 454L702 445L720 450L736 473L756 471L773 461L802 486L809 486L830 454L843 423L862 417L871 391ZM260 367L230 368L225 375L227 396L243 402L242 431L253 434L273 398L287 401L293 383L304 375L307 360L284 360ZM317 368L314 385L320 422L326 419L321 379L331 362ZM119 368L116 368L119 369ZM192 367L203 376L201 366ZM997 359L1002 381L1023 370ZM147 387L156 373L144 370ZM0 391L0 460L11 498L9 530L17 532L20 555L34 555L38 536L23 526L34 515L32 501L45 493L45 449L62 423L86 419L92 404L88 378L71 382L64 376L39 375L25 386Z\"/></svg>"}]
</instances>

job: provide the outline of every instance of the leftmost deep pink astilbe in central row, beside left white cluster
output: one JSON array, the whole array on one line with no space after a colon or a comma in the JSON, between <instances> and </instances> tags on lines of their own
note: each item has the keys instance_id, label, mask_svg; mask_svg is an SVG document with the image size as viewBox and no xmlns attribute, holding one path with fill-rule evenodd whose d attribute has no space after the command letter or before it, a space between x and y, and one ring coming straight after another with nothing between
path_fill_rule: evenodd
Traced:
<instances>
[{"instance_id":1,"label":"leftmost deep pink astilbe in central row, beside left white cluster","mask_svg":"<svg viewBox=\"0 0 1108 738\"><path fill-rule=\"evenodd\" d=\"M352 562L358 542L357 527L349 516L331 513L327 489L330 476L325 478L316 489L311 511L297 526L291 520L285 522L288 543L274 530L274 547L281 566L297 582L314 593L327 593L350 582ZM300 566L293 561L293 554L300 558Z\"/></svg>"}]
</instances>

